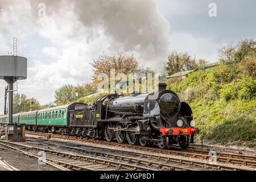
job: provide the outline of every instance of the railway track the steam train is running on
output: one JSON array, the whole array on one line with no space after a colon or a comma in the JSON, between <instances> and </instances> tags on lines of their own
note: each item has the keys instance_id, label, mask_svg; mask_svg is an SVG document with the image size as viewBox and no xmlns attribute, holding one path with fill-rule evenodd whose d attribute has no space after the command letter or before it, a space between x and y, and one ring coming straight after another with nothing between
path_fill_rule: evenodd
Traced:
<instances>
[{"instance_id":1,"label":"railway track the steam train is running on","mask_svg":"<svg viewBox=\"0 0 256 182\"><path fill-rule=\"evenodd\" d=\"M27 132L27 134L38 135L42 137L46 137L46 133L35 133L35 132ZM133 148L139 151L146 151L146 152L158 152L159 154L173 154L173 155L180 155L180 156L190 156L192 158L199 158L199 159L209 159L212 158L212 155L209 155L209 151L204 150L187 150L187 149L180 149L180 148L172 148L171 150L161 150L159 148L154 147L142 147L142 146L131 146L130 144L125 143L116 143L116 142L106 142L105 140L93 140L93 139L85 139L85 138L77 138L73 136L65 136L65 135L57 135L53 134L52 138L58 139L65 139L65 140L72 140L72 141L80 141L80 142L88 142L88 143L96 143L96 144L105 144L107 146L115 146L115 147L122 147L122 148ZM234 154L228 152L216 152L216 160L222 163L232 163L232 164L243 164L247 166L256 166L256 156L253 155L243 155L243 154Z\"/></svg>"}]
</instances>

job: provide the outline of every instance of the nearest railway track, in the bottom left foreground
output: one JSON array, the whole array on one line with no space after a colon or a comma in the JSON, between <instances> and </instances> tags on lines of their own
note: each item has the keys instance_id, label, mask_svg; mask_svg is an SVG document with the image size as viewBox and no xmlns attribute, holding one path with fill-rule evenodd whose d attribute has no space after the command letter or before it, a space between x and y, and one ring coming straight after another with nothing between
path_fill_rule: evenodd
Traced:
<instances>
[{"instance_id":1,"label":"nearest railway track, in the bottom left foreground","mask_svg":"<svg viewBox=\"0 0 256 182\"><path fill-rule=\"evenodd\" d=\"M39 148L28 146L24 144L18 144L13 142L3 142L0 141L0 149L11 150L25 154L28 156L33 156L36 158L41 158L38 155L39 151L44 151L47 157L44 158L47 164L52 164L53 167L59 168L63 171L96 171L96 170L106 170L106 171L156 171L157 169L143 167L140 165L133 165L122 162L115 162L113 160L106 160L101 158L95 158L85 155L77 155L68 152L61 152L56 150L49 150L46 148ZM41 158L42 159L42 158ZM185 168L176 167L176 170L184 170ZM189 169L188 169L189 170Z\"/></svg>"}]
</instances>

